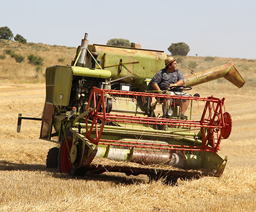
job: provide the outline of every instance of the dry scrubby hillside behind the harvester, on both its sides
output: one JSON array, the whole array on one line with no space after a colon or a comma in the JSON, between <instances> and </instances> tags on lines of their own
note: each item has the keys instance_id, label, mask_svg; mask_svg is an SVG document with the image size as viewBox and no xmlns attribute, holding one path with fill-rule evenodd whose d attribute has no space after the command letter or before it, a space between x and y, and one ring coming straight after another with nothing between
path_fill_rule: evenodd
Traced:
<instances>
[{"instance_id":1,"label":"dry scrubby hillside behind the harvester, on both its sides","mask_svg":"<svg viewBox=\"0 0 256 212\"><path fill-rule=\"evenodd\" d=\"M79 45L79 44L77 44ZM9 51L24 57L22 62L16 62L14 57L7 54ZM28 56L34 55L43 58L43 65L32 65ZM21 44L18 41L0 40L0 82L14 83L44 83L46 67L52 65L70 65L75 57L76 47L48 45L42 43ZM256 85L256 60L220 57L179 57L178 60L195 72L210 69L227 62L233 62L249 86ZM179 65L184 75L191 73L184 66ZM218 79L218 82L226 82Z\"/></svg>"}]
</instances>

